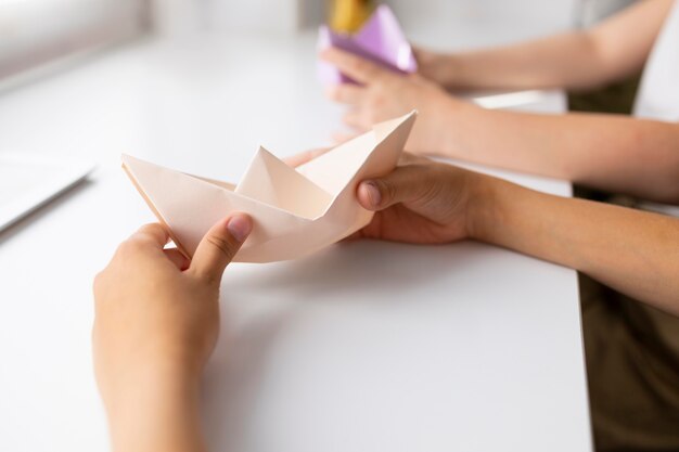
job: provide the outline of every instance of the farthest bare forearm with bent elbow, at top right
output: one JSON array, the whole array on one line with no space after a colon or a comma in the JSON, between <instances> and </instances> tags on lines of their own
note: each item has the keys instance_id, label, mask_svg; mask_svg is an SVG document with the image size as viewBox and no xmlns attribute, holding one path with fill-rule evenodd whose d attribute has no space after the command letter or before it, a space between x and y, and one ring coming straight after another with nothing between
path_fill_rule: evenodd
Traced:
<instances>
[{"instance_id":1,"label":"farthest bare forearm with bent elbow, at top right","mask_svg":"<svg viewBox=\"0 0 679 452\"><path fill-rule=\"evenodd\" d=\"M640 72L674 0L646 0L584 31L440 55L418 52L422 75L450 89L593 88Z\"/></svg>"}]
</instances>

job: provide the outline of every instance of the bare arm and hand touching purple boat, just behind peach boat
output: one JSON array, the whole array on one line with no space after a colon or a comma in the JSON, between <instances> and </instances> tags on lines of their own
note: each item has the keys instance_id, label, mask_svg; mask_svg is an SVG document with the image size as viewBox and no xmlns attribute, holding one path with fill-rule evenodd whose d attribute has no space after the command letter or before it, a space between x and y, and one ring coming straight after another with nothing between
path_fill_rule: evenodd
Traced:
<instances>
[{"instance_id":1,"label":"bare arm and hand touching purple boat, just behind peach boat","mask_svg":"<svg viewBox=\"0 0 679 452\"><path fill-rule=\"evenodd\" d=\"M650 0L649 0L650 1ZM659 0L658 0L659 1ZM330 49L323 57L362 86L329 91L349 105L344 121L367 130L417 108L407 148L679 204L679 125L614 115L491 111Z\"/></svg>"}]
</instances>

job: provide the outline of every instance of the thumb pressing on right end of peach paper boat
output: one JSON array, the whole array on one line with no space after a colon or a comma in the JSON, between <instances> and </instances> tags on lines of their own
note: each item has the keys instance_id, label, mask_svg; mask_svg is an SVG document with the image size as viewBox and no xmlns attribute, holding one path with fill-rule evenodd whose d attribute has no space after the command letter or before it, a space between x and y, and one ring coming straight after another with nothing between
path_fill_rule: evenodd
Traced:
<instances>
[{"instance_id":1,"label":"thumb pressing on right end of peach paper boat","mask_svg":"<svg viewBox=\"0 0 679 452\"><path fill-rule=\"evenodd\" d=\"M358 202L363 208L376 211L425 198L436 192L436 181L427 178L426 171L423 165L408 165L383 178L366 180L358 185Z\"/></svg>"}]
</instances>

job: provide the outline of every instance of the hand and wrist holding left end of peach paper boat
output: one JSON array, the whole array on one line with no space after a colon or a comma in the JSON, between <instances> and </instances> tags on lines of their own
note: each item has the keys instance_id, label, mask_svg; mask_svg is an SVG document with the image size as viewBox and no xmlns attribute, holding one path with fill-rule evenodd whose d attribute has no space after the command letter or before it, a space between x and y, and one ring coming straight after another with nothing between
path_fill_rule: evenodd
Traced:
<instances>
[{"instance_id":1,"label":"hand and wrist holding left end of peach paper boat","mask_svg":"<svg viewBox=\"0 0 679 452\"><path fill-rule=\"evenodd\" d=\"M220 221L189 261L163 249L164 227L148 224L97 276L94 371L114 449L200 443L197 388L219 331L219 284L251 230L243 214Z\"/></svg>"}]
</instances>

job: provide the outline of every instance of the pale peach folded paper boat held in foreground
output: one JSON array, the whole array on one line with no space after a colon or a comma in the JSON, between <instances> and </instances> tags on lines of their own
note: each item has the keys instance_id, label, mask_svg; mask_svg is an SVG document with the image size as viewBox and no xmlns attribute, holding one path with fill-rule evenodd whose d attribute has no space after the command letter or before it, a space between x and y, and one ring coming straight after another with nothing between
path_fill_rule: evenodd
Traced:
<instances>
[{"instance_id":1,"label":"pale peach folded paper boat held in foreground","mask_svg":"<svg viewBox=\"0 0 679 452\"><path fill-rule=\"evenodd\" d=\"M123 155L123 168L187 256L217 221L243 211L253 217L254 229L235 261L295 259L370 222L373 212L358 204L357 185L396 167L415 115L377 124L296 169L260 147L238 185L129 155Z\"/></svg>"}]
</instances>

